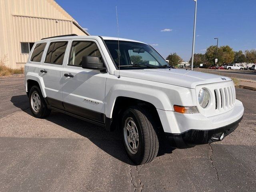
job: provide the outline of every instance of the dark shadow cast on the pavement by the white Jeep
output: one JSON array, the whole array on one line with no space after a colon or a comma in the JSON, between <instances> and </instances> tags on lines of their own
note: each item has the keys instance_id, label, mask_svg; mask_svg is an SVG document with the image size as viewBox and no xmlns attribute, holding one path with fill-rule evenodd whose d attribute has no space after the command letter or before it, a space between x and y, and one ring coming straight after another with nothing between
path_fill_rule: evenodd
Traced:
<instances>
[{"instance_id":1,"label":"dark shadow cast on the pavement by the white Jeep","mask_svg":"<svg viewBox=\"0 0 256 192\"><path fill-rule=\"evenodd\" d=\"M24 106L24 102L26 102L26 100L27 106ZM26 95L12 96L10 101L14 106L20 108L27 114L32 115L29 109L28 97ZM134 165L126 155L122 142L122 134L120 131L116 130L114 132L109 132L100 126L91 124L78 118L74 118L72 116L68 116L60 112L55 112L53 110L50 116L46 117L45 119L72 132L75 132L85 138L88 138L96 146L114 158L126 164ZM172 150L174 149L171 148L163 135L160 136L159 142L160 147L158 156L172 153Z\"/></svg>"}]
</instances>

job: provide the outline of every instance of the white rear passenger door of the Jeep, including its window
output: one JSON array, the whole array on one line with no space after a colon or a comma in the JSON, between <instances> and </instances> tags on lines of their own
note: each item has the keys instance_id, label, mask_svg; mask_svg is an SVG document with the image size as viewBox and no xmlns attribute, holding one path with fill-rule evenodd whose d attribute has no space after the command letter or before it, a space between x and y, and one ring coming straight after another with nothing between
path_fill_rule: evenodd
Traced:
<instances>
[{"instance_id":1,"label":"white rear passenger door of the Jeep, including its window","mask_svg":"<svg viewBox=\"0 0 256 192\"><path fill-rule=\"evenodd\" d=\"M62 110L62 70L67 57L67 46L68 40L48 42L48 50L39 69L49 105Z\"/></svg>"}]
</instances>

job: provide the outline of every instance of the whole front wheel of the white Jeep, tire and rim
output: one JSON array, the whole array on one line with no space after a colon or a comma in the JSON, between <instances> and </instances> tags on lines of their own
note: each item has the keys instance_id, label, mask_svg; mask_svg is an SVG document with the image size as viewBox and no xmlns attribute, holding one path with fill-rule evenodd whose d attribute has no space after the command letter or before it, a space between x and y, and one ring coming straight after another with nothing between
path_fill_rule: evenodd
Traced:
<instances>
[{"instance_id":1,"label":"whole front wheel of the white Jeep, tire and rim","mask_svg":"<svg viewBox=\"0 0 256 192\"><path fill-rule=\"evenodd\" d=\"M126 152L135 164L151 162L158 154L154 118L144 108L132 106L124 112L122 136Z\"/></svg>"}]
</instances>

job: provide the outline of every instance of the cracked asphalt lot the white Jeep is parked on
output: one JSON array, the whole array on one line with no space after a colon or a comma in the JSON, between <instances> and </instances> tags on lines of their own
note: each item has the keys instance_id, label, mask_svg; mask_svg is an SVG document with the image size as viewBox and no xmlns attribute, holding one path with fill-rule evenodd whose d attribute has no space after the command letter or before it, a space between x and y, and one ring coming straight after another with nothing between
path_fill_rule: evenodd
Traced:
<instances>
[{"instance_id":1,"label":"cracked asphalt lot the white Jeep is parked on","mask_svg":"<svg viewBox=\"0 0 256 192\"><path fill-rule=\"evenodd\" d=\"M23 78L0 79L0 191L256 191L256 92L236 89L245 107L221 142L172 149L134 166L119 132L52 112L34 118Z\"/></svg>"}]
</instances>

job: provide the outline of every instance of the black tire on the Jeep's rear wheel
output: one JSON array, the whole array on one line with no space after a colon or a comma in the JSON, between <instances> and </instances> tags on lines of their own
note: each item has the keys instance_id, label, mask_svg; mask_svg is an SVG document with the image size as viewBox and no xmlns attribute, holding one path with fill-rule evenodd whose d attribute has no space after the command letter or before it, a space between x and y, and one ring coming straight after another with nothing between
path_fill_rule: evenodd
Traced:
<instances>
[{"instance_id":1,"label":"black tire on the Jeep's rear wheel","mask_svg":"<svg viewBox=\"0 0 256 192\"><path fill-rule=\"evenodd\" d=\"M38 105L35 107L32 102L32 96L36 96L38 98ZM30 110L36 118L45 118L48 115L50 115L51 110L47 108L46 102L44 101L44 98L42 96L42 92L38 86L32 86L32 88L29 91L29 106ZM39 107L38 107L39 106Z\"/></svg>"}]
</instances>

